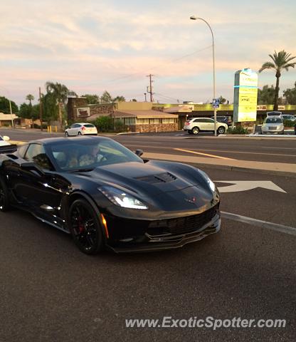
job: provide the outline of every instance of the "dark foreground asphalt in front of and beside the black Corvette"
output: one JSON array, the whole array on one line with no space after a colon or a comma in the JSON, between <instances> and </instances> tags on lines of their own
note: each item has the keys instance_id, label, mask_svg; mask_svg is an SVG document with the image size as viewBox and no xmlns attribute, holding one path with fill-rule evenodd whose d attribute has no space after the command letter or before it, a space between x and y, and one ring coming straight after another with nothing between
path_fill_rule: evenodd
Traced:
<instances>
[{"instance_id":1,"label":"dark foreground asphalt in front of and beside the black Corvette","mask_svg":"<svg viewBox=\"0 0 296 342\"><path fill-rule=\"evenodd\" d=\"M295 178L203 170L213 180L274 182L286 193L222 193L221 209L296 227ZM30 214L0 219L0 341L295 341L294 235L223 219L219 234L182 249L88 257ZM163 316L278 318L287 326L125 328L126 318Z\"/></svg>"}]
</instances>

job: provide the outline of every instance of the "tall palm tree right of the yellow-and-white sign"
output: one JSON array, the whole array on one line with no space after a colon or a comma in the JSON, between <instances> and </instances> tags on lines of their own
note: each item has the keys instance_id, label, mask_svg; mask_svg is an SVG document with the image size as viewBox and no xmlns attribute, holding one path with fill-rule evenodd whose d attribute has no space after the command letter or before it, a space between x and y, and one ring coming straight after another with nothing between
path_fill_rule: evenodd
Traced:
<instances>
[{"instance_id":1,"label":"tall palm tree right of the yellow-and-white sign","mask_svg":"<svg viewBox=\"0 0 296 342\"><path fill-rule=\"evenodd\" d=\"M291 57L291 53L287 53L285 50L280 51L277 53L273 53L273 55L268 55L273 60L273 62L265 62L263 66L261 66L259 73L265 69L273 69L275 71L275 77L277 78L277 82L275 85L275 100L273 101L273 110L278 109L278 93L280 91L280 76L281 71L285 69L285 71L288 71L289 68L295 68L296 62L292 62L292 59L296 58Z\"/></svg>"}]
</instances>

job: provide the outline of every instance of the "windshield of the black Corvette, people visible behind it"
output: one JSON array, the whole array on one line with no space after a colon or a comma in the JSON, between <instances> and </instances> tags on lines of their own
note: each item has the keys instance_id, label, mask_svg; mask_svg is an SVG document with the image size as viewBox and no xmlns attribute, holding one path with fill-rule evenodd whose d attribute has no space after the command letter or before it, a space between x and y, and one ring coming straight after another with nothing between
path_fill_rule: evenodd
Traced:
<instances>
[{"instance_id":1,"label":"windshield of the black Corvette, people visible behind it","mask_svg":"<svg viewBox=\"0 0 296 342\"><path fill-rule=\"evenodd\" d=\"M63 171L93 170L121 162L143 162L143 160L114 140L77 140L46 146L46 151Z\"/></svg>"}]
</instances>

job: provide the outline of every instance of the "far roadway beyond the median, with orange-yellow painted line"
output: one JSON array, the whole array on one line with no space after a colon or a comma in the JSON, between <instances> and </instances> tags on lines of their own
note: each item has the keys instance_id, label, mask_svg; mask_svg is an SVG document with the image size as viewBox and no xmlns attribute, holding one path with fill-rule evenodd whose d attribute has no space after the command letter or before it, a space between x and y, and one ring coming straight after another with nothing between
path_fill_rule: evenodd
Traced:
<instances>
[{"instance_id":1,"label":"far roadway beyond the median, with orange-yellow painted line","mask_svg":"<svg viewBox=\"0 0 296 342\"><path fill-rule=\"evenodd\" d=\"M63 136L60 133L41 133L38 130L0 130L0 134L9 135L11 140L21 141ZM214 156L260 162L296 163L296 140L294 138L281 139L276 136L274 139L214 138L208 134L192 137L184 132L110 135L110 137L131 150L139 148L144 152L174 155L194 155L197 152L202 157ZM182 151L176 149L182 149Z\"/></svg>"}]
</instances>

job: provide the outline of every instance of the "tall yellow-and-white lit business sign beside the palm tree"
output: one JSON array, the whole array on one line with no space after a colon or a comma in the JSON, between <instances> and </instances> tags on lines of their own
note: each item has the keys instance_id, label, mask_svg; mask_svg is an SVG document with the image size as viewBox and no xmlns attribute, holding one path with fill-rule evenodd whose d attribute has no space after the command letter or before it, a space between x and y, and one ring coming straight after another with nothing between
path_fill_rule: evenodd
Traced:
<instances>
[{"instance_id":1,"label":"tall yellow-and-white lit business sign beside the palm tree","mask_svg":"<svg viewBox=\"0 0 296 342\"><path fill-rule=\"evenodd\" d=\"M234 78L233 121L255 121L257 118L258 75L250 68L236 71Z\"/></svg>"}]
</instances>

